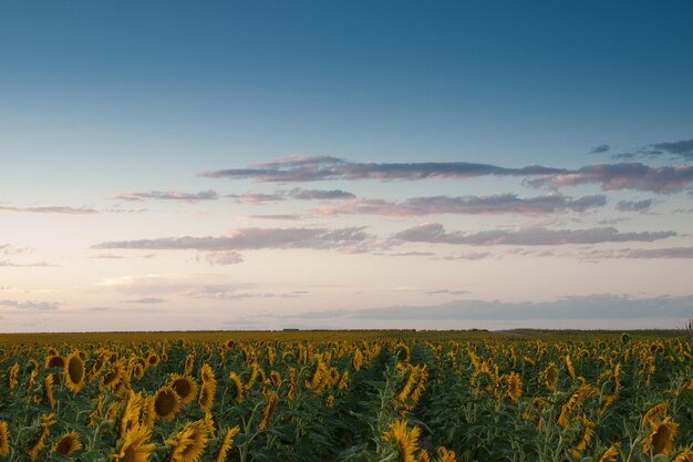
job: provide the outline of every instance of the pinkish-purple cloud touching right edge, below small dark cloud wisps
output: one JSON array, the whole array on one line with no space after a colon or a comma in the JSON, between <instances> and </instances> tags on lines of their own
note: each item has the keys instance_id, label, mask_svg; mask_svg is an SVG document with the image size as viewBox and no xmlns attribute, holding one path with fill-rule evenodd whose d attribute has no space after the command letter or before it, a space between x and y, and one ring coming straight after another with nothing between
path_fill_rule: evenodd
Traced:
<instances>
[{"instance_id":1,"label":"pinkish-purple cloud touching right edge, below small dark cloud wisps","mask_svg":"<svg viewBox=\"0 0 693 462\"><path fill-rule=\"evenodd\" d=\"M693 166L651 167L641 163L597 164L570 173L529 179L530 186L563 187L599 184L604 191L637 189L656 194L679 193L693 182Z\"/></svg>"}]
</instances>

